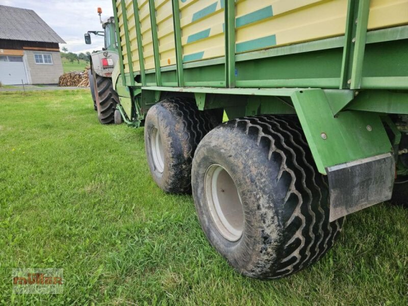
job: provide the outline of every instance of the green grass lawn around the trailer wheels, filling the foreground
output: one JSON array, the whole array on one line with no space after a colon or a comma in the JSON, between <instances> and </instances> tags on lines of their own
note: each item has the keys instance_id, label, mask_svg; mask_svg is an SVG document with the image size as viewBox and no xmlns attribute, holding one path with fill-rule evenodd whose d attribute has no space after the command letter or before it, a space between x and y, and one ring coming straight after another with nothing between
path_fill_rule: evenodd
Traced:
<instances>
[{"instance_id":1,"label":"green grass lawn around the trailer wheels, filling the foreground","mask_svg":"<svg viewBox=\"0 0 408 306\"><path fill-rule=\"evenodd\" d=\"M209 245L192 197L152 181L143 128L100 125L87 90L0 98L1 304L408 304L408 210L355 213L313 267L250 279ZM63 268L64 293L13 295L17 267Z\"/></svg>"}]
</instances>

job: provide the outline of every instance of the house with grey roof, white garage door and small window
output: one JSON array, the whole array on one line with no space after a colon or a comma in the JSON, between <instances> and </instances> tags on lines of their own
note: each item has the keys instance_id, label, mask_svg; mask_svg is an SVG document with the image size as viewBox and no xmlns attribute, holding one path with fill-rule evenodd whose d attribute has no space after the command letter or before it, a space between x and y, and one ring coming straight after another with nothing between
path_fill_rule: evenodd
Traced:
<instances>
[{"instance_id":1,"label":"house with grey roof, white garage door and small window","mask_svg":"<svg viewBox=\"0 0 408 306\"><path fill-rule=\"evenodd\" d=\"M33 10L0 5L0 82L57 84L65 41Z\"/></svg>"}]
</instances>

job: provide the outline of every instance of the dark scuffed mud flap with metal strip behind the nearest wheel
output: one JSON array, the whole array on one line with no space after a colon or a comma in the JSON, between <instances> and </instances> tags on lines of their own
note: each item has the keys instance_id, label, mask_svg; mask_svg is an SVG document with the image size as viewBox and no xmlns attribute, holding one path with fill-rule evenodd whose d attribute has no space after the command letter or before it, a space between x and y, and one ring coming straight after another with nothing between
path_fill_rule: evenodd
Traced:
<instances>
[{"instance_id":1,"label":"dark scuffed mud flap with metal strip behind the nearest wheel","mask_svg":"<svg viewBox=\"0 0 408 306\"><path fill-rule=\"evenodd\" d=\"M391 153L326 168L330 222L391 199L395 161Z\"/></svg>"}]
</instances>

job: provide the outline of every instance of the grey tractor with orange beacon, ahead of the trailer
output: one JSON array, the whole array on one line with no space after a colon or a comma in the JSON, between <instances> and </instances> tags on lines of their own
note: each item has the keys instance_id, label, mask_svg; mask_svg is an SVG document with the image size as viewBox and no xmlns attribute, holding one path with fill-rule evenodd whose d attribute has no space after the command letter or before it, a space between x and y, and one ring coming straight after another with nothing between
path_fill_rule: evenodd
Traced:
<instances>
[{"instance_id":1,"label":"grey tractor with orange beacon, ahead of the trailer","mask_svg":"<svg viewBox=\"0 0 408 306\"><path fill-rule=\"evenodd\" d=\"M119 97L113 90L112 72L118 62L118 47L115 33L115 18L109 17L102 20L102 9L97 9L99 21L103 31L88 31L85 33L85 43L92 44L91 34L104 37L105 46L101 51L93 52L90 56L91 68L88 70L89 87L91 90L93 107L98 112L98 119L102 124L122 122L119 111L116 112L116 105Z\"/></svg>"}]
</instances>

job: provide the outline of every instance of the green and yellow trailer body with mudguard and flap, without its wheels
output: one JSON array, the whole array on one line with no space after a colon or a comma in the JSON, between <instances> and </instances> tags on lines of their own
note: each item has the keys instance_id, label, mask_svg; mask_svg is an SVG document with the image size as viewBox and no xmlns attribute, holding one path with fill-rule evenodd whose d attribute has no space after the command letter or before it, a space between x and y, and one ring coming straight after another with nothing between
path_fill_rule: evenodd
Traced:
<instances>
[{"instance_id":1,"label":"green and yellow trailer body with mudguard and flap, without its wheels","mask_svg":"<svg viewBox=\"0 0 408 306\"><path fill-rule=\"evenodd\" d=\"M128 124L169 96L230 119L297 115L328 175L331 220L388 200L408 174L407 0L112 3Z\"/></svg>"}]
</instances>

